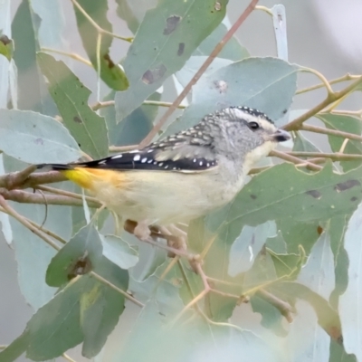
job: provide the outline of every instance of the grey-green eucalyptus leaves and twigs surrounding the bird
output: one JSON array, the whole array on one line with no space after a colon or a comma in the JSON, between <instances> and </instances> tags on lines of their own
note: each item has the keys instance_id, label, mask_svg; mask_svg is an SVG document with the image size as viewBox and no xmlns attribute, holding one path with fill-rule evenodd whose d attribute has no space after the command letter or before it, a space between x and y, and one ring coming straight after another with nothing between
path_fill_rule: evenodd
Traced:
<instances>
[{"instance_id":1,"label":"grey-green eucalyptus leaves and twigs surrounding the bird","mask_svg":"<svg viewBox=\"0 0 362 362\"><path fill-rule=\"evenodd\" d=\"M82 355L97 361L362 361L361 112L336 110L361 90L362 77L328 82L287 62L279 27L279 58L250 56L224 21L227 0L139 8L117 0L117 22L134 37L113 33L106 0L71 3L89 60L67 51L62 16L54 17L64 11L60 0L23 0L13 37L0 32L0 73L9 70L0 80L0 224L34 310L0 362L24 353L35 361L69 358L81 343ZM258 10L274 23L285 17L281 5ZM231 39L222 50L224 36ZM111 55L115 42L128 45L121 61ZM214 47L214 62L195 83ZM91 70L92 90L70 59ZM305 71L321 83L297 90ZM348 83L332 90L339 81ZM194 85L190 105L178 119L156 122L161 107L185 108L182 99L165 101L180 85ZM323 87L321 103L290 111L296 94ZM187 252L174 251L173 259L161 240L150 246L110 234L112 214L62 176L33 173L33 164L137 148L129 143L148 132L152 138L161 129L164 137L230 105L262 110L292 140L252 169L229 205L194 220ZM313 116L325 128L310 124ZM331 152L321 152L306 130L328 135ZM131 304L139 310L125 309ZM130 333L119 340L122 327Z\"/></svg>"}]
</instances>

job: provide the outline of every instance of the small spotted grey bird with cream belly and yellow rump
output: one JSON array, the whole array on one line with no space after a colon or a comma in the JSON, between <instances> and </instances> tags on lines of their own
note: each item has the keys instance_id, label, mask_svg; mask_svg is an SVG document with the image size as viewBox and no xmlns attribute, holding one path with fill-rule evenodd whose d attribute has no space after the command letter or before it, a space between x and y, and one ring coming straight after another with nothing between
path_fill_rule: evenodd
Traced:
<instances>
[{"instance_id":1,"label":"small spotted grey bird with cream belly and yellow rump","mask_svg":"<svg viewBox=\"0 0 362 362\"><path fill-rule=\"evenodd\" d=\"M144 240L150 226L188 223L229 203L250 169L289 138L264 113L229 107L145 148L46 166L89 190L121 220L136 222L134 233Z\"/></svg>"}]
</instances>

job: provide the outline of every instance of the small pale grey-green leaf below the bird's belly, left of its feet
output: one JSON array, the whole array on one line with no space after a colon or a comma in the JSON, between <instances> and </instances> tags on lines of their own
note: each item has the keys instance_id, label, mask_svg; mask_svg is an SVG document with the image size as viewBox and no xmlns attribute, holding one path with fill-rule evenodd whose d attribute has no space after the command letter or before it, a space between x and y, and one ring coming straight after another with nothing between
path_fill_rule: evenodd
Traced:
<instances>
[{"instance_id":1,"label":"small pale grey-green leaf below the bird's belly, left of its feet","mask_svg":"<svg viewBox=\"0 0 362 362\"><path fill-rule=\"evenodd\" d=\"M129 269L138 263L138 251L116 235L101 238L103 255L121 269Z\"/></svg>"}]
</instances>

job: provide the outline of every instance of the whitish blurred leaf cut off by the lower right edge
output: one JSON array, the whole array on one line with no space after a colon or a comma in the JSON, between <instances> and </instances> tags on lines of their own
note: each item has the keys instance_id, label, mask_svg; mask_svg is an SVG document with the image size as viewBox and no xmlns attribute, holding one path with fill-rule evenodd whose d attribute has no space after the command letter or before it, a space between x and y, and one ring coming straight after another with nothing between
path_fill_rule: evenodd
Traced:
<instances>
[{"instance_id":1,"label":"whitish blurred leaf cut off by the lower right edge","mask_svg":"<svg viewBox=\"0 0 362 362\"><path fill-rule=\"evenodd\" d=\"M362 358L362 345L359 332L362 329L360 313L362 300L362 284L360 281L362 266L362 205L359 205L348 222L345 233L345 249L348 253L348 287L339 298L339 314L343 330L343 344L347 353Z\"/></svg>"}]
</instances>

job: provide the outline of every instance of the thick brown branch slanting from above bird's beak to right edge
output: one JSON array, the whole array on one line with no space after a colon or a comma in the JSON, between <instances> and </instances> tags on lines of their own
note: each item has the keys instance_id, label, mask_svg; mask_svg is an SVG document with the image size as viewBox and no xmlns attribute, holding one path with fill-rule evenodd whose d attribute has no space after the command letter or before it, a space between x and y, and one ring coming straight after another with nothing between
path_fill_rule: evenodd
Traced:
<instances>
[{"instance_id":1,"label":"thick brown branch slanting from above bird's beak to right edge","mask_svg":"<svg viewBox=\"0 0 362 362\"><path fill-rule=\"evenodd\" d=\"M329 104L335 102L336 100L341 99L342 97L345 97L350 91L355 90L358 85L362 83L362 76L360 76L357 81L354 81L353 83L349 84L348 87L346 87L344 90L336 91L332 94L329 94L328 97L321 101L317 106L310 109L309 111L302 114L297 119L292 120L290 123L283 126L283 129L286 130L298 130L302 126L303 122L305 122L307 119L310 119L314 115L316 115L321 110L324 110Z\"/></svg>"}]
</instances>

